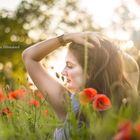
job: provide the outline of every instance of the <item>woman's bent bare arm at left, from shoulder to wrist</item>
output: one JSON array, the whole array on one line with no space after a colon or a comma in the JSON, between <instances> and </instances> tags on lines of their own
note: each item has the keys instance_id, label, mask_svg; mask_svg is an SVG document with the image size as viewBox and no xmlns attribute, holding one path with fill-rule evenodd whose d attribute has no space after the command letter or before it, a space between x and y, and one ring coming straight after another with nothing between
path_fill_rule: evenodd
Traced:
<instances>
[{"instance_id":1,"label":"woman's bent bare arm at left, from shoulder to wrist","mask_svg":"<svg viewBox=\"0 0 140 140\"><path fill-rule=\"evenodd\" d=\"M63 103L64 87L53 79L39 63L41 59L60 46L61 43L57 37L45 40L25 49L22 58L34 84L52 105L57 115L64 119L66 115Z\"/></svg>"}]
</instances>

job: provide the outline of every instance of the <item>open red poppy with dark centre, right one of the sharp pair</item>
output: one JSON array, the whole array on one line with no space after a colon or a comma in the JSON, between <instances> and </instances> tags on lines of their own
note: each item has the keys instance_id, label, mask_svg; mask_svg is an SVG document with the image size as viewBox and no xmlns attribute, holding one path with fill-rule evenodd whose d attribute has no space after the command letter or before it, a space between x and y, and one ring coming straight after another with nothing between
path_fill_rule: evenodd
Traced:
<instances>
[{"instance_id":1,"label":"open red poppy with dark centre, right one of the sharp pair","mask_svg":"<svg viewBox=\"0 0 140 140\"><path fill-rule=\"evenodd\" d=\"M104 111L111 107L111 101L106 95L98 94L94 97L92 105L95 110Z\"/></svg>"}]
</instances>

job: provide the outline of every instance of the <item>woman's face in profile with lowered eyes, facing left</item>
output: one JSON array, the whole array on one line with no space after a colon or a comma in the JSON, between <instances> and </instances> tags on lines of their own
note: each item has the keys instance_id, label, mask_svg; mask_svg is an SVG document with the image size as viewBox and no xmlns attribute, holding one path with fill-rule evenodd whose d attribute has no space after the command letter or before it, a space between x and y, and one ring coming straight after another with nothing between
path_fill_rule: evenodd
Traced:
<instances>
[{"instance_id":1,"label":"woman's face in profile with lowered eyes, facing left","mask_svg":"<svg viewBox=\"0 0 140 140\"><path fill-rule=\"evenodd\" d=\"M83 69L70 50L66 56L66 66L62 71L62 75L66 77L66 88L68 90L71 92L80 91L84 81Z\"/></svg>"}]
</instances>

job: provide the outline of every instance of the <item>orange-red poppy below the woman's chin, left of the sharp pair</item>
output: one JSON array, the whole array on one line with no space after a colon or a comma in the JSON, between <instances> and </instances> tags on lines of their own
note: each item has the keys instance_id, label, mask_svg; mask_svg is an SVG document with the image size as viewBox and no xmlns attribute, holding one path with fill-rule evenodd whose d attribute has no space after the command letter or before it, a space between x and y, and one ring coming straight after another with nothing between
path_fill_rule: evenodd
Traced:
<instances>
[{"instance_id":1,"label":"orange-red poppy below the woman's chin, left of the sharp pair","mask_svg":"<svg viewBox=\"0 0 140 140\"><path fill-rule=\"evenodd\" d=\"M87 103L91 102L94 99L96 94L97 91L93 88L84 89L82 92L79 93L80 103L86 105Z\"/></svg>"}]
</instances>

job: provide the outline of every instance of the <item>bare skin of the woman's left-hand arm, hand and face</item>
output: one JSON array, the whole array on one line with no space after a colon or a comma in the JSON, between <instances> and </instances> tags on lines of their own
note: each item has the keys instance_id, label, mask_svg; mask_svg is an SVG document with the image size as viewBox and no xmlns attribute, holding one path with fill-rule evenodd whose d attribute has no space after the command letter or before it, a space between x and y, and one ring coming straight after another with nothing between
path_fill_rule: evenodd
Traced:
<instances>
[{"instance_id":1,"label":"bare skin of the woman's left-hand arm, hand and face","mask_svg":"<svg viewBox=\"0 0 140 140\"><path fill-rule=\"evenodd\" d=\"M98 42L95 33L92 32L68 33L63 36L63 40L65 43L75 42L81 45L86 44L88 47L96 47L90 42L87 42L87 37L96 42L97 47L100 47L100 42ZM49 55L51 52L61 47L61 45L62 44L59 42L57 37L47 39L25 49L22 53L22 58L26 70L36 87L40 92L42 92L58 117L65 120L67 112L64 107L63 99L64 94L66 93L66 88L53 79L49 75L49 72L45 71L39 63L46 55ZM76 61L76 58L70 53L66 58L66 62L68 61L75 65L71 69L67 64L62 72L67 79L71 80L67 83L66 87L69 90L78 91L82 85L81 81L83 72L80 65Z\"/></svg>"}]
</instances>

